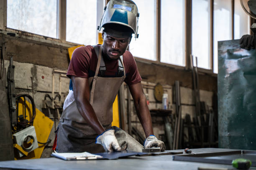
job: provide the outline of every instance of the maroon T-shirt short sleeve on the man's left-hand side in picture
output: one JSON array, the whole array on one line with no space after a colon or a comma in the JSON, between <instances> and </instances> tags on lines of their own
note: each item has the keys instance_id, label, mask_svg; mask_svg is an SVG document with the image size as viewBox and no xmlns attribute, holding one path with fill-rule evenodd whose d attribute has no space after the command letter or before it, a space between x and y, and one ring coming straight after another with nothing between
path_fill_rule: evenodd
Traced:
<instances>
[{"instance_id":1,"label":"maroon T-shirt short sleeve on the man's left-hand side in picture","mask_svg":"<svg viewBox=\"0 0 256 170\"><path fill-rule=\"evenodd\" d=\"M91 52L89 47L83 46L74 50L67 71L67 76L69 78L71 76L88 78Z\"/></svg>"}]
</instances>

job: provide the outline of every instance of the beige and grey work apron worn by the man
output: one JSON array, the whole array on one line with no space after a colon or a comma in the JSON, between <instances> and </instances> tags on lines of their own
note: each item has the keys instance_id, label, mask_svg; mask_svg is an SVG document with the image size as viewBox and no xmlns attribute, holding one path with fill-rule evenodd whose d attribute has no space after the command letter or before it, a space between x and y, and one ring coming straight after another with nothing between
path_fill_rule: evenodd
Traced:
<instances>
[{"instance_id":1,"label":"beige and grey work apron worn by the man","mask_svg":"<svg viewBox=\"0 0 256 170\"><path fill-rule=\"evenodd\" d=\"M125 68L123 68L123 77L98 77L101 57L102 46L100 46L95 76L89 78L90 103L100 123L107 130L111 128L113 102L125 79ZM124 67L122 57L120 59ZM56 152L104 152L101 145L95 144L97 135L81 116L74 101L62 112L57 130Z\"/></svg>"}]
</instances>

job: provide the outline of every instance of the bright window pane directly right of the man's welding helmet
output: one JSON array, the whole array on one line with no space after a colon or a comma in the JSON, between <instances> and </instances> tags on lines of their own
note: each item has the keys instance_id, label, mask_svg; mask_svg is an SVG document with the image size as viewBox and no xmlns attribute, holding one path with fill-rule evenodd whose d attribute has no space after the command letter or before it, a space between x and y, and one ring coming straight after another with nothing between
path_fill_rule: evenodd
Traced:
<instances>
[{"instance_id":1,"label":"bright window pane directly right of the man's welding helmet","mask_svg":"<svg viewBox=\"0 0 256 170\"><path fill-rule=\"evenodd\" d=\"M133 0L138 7L138 39L133 37L129 50L135 57L156 60L156 0Z\"/></svg>"}]
</instances>

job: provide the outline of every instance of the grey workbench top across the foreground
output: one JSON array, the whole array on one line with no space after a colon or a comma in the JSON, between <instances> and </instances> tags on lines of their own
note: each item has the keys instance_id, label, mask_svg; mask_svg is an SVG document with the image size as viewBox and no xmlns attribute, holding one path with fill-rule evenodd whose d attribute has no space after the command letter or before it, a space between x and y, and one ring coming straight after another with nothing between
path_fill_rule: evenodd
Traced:
<instances>
[{"instance_id":1,"label":"grey workbench top across the foreground","mask_svg":"<svg viewBox=\"0 0 256 170\"><path fill-rule=\"evenodd\" d=\"M175 150L184 151L184 150ZM235 151L233 149L200 148L193 152L216 153ZM183 152L185 155L186 153ZM0 169L26 170L197 170L198 167L232 168L231 165L196 163L172 160L173 155L131 156L116 160L71 160L41 158L33 160L11 160L0 162Z\"/></svg>"}]
</instances>

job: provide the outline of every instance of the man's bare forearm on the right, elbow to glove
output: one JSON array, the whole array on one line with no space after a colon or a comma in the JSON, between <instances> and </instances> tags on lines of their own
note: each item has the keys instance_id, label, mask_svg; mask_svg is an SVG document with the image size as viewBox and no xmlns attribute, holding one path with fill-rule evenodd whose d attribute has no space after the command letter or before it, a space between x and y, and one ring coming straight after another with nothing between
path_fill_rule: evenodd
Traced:
<instances>
[{"instance_id":1,"label":"man's bare forearm on the right, elbow to glove","mask_svg":"<svg viewBox=\"0 0 256 170\"><path fill-rule=\"evenodd\" d=\"M143 127L146 138L149 135L154 135L151 115L146 102L146 97L142 96L138 103L134 102L134 105L136 107L137 115Z\"/></svg>"}]
</instances>

